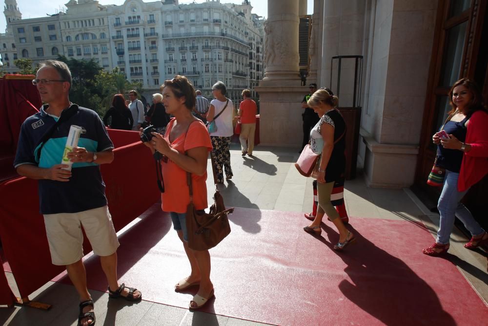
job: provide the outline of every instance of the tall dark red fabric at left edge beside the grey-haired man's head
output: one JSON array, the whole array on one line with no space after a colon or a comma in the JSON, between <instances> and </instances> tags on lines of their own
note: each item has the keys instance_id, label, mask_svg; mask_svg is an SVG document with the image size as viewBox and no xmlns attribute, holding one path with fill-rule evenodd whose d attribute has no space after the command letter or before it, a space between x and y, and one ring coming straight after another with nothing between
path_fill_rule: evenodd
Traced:
<instances>
[{"instance_id":1,"label":"tall dark red fabric at left edge beside the grey-haired man's head","mask_svg":"<svg viewBox=\"0 0 488 326\"><path fill-rule=\"evenodd\" d=\"M15 153L20 126L42 105L34 75L5 75L0 83L0 154Z\"/></svg>"}]
</instances>

